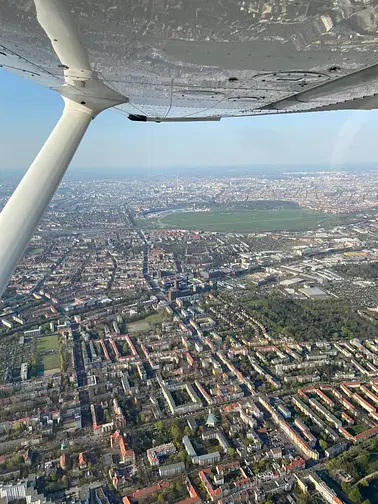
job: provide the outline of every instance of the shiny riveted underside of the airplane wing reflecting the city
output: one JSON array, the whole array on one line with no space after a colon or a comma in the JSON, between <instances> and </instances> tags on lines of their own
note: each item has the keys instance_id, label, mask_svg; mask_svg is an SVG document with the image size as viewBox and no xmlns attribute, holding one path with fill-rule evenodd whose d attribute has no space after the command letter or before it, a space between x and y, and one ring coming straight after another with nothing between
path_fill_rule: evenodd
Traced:
<instances>
[{"instance_id":1,"label":"shiny riveted underside of the airplane wing reflecting the city","mask_svg":"<svg viewBox=\"0 0 378 504\"><path fill-rule=\"evenodd\" d=\"M377 4L64 0L91 67L135 121L376 108ZM60 90L67 63L32 0L0 6L0 64Z\"/></svg>"}]
</instances>

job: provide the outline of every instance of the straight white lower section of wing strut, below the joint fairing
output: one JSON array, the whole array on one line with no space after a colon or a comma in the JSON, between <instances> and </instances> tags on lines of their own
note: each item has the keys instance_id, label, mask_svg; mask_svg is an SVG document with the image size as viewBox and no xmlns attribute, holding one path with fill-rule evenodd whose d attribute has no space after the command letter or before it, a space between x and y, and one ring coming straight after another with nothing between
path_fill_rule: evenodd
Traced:
<instances>
[{"instance_id":1,"label":"straight white lower section of wing strut, below the joint fairing","mask_svg":"<svg viewBox=\"0 0 378 504\"><path fill-rule=\"evenodd\" d=\"M85 107L65 99L62 117L0 213L0 296L92 117Z\"/></svg>"}]
</instances>

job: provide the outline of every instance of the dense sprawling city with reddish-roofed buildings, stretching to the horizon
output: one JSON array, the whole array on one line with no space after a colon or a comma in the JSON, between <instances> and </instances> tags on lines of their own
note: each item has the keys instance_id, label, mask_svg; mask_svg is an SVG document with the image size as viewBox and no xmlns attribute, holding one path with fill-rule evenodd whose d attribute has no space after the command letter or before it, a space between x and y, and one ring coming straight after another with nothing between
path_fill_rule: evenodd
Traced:
<instances>
[{"instance_id":1,"label":"dense sprawling city with reddish-roofed buildings, stretching to the horizon","mask_svg":"<svg viewBox=\"0 0 378 504\"><path fill-rule=\"evenodd\" d=\"M0 306L4 503L377 502L377 182L67 180Z\"/></svg>"}]
</instances>

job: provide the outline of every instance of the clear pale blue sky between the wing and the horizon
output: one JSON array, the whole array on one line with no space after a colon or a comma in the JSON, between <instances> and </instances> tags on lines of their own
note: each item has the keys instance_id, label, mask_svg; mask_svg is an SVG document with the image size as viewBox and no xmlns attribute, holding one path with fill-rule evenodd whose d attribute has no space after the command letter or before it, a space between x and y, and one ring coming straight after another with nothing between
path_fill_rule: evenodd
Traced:
<instances>
[{"instance_id":1,"label":"clear pale blue sky between the wing and the horizon","mask_svg":"<svg viewBox=\"0 0 378 504\"><path fill-rule=\"evenodd\" d=\"M57 93L1 69L0 170L26 169L61 110ZM377 119L378 111L359 111L146 124L106 111L72 168L374 163Z\"/></svg>"}]
</instances>

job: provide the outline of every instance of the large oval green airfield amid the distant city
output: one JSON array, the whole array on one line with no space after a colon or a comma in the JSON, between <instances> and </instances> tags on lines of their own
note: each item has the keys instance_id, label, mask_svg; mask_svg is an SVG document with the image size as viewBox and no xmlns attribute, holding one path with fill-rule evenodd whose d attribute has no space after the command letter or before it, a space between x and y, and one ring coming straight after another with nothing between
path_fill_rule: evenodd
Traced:
<instances>
[{"instance_id":1,"label":"large oval green airfield amid the distant city","mask_svg":"<svg viewBox=\"0 0 378 504\"><path fill-rule=\"evenodd\" d=\"M206 231L255 232L307 230L345 223L344 215L324 214L300 208L282 210L245 210L181 212L165 215L158 223L164 227L203 229Z\"/></svg>"}]
</instances>

